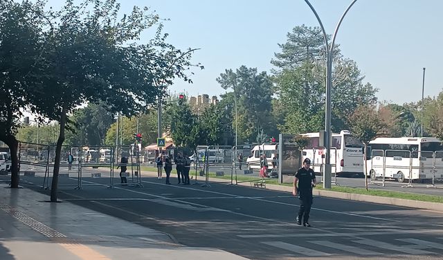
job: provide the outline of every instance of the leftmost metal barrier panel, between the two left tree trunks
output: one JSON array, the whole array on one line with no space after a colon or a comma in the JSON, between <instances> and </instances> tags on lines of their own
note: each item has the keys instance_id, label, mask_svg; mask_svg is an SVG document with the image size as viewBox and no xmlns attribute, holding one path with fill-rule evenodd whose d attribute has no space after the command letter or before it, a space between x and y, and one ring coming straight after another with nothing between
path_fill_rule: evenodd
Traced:
<instances>
[{"instance_id":1,"label":"leftmost metal barrier panel, between the two left tree trunks","mask_svg":"<svg viewBox=\"0 0 443 260\"><path fill-rule=\"evenodd\" d=\"M27 182L42 183L47 189L50 146L19 141L19 175Z\"/></svg>"}]
</instances>

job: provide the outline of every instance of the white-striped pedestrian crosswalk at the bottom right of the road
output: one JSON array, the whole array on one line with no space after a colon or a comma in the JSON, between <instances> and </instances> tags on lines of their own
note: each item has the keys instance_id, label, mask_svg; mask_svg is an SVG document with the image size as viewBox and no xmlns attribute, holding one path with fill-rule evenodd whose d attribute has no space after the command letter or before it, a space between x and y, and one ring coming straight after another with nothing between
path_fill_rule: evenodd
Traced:
<instances>
[{"instance_id":1,"label":"white-striped pedestrian crosswalk at the bottom right of the road","mask_svg":"<svg viewBox=\"0 0 443 260\"><path fill-rule=\"evenodd\" d=\"M296 243L284 241L262 241L273 248L286 250L305 257L329 257L334 255L357 255L377 257L386 254L411 254L411 255L443 255L443 237L433 239L392 239L388 242L361 237L350 237L341 241L327 240L298 240Z\"/></svg>"}]
</instances>

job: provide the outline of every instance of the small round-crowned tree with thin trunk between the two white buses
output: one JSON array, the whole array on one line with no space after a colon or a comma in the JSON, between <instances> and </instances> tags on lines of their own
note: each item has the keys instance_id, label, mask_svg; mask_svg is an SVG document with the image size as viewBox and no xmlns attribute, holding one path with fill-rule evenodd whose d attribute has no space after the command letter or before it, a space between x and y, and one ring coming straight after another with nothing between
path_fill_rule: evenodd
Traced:
<instances>
[{"instance_id":1,"label":"small round-crowned tree with thin trunk between the two white buses","mask_svg":"<svg viewBox=\"0 0 443 260\"><path fill-rule=\"evenodd\" d=\"M368 163L367 163L367 152L369 141L377 136L379 131L383 128L383 122L379 116L374 105L359 105L353 114L349 117L352 135L357 139L363 141L363 157L365 162L365 187L368 190Z\"/></svg>"}]
</instances>

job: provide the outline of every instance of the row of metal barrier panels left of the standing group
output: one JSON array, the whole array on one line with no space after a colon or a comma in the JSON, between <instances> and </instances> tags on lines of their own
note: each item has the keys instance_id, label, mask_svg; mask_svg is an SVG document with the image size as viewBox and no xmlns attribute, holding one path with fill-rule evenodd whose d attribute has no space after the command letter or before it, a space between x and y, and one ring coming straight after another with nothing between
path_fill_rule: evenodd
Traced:
<instances>
[{"instance_id":1,"label":"row of metal barrier panels left of the standing group","mask_svg":"<svg viewBox=\"0 0 443 260\"><path fill-rule=\"evenodd\" d=\"M118 156L114 156L114 150L118 151ZM55 146L19 142L18 154L19 172L23 173L25 180L33 183L42 182L42 188L50 188ZM70 155L72 155L71 158ZM107 186L114 188L120 184L143 187L139 153L136 153L132 146L62 146L60 156L59 187L75 186L75 189L82 189L85 186ZM125 164L121 162L122 157L126 158ZM114 161L119 163L114 164ZM119 168L123 166L125 169L125 171L120 170L122 174L118 176L119 180L125 177L125 183L114 180L114 168L117 166Z\"/></svg>"}]
</instances>

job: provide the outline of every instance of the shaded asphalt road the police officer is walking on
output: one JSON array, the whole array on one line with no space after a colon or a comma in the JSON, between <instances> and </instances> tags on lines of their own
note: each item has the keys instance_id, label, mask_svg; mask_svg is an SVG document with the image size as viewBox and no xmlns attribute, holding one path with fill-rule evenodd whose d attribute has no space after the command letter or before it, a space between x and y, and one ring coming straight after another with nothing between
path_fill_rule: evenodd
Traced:
<instances>
[{"instance_id":1,"label":"shaded asphalt road the police officer is walking on","mask_svg":"<svg viewBox=\"0 0 443 260\"><path fill-rule=\"evenodd\" d=\"M118 182L118 178L115 178ZM442 213L314 198L313 227L295 224L298 200L291 194L211 184L164 184L143 178L143 188L107 189L108 178L60 179L60 199L174 236L193 247L226 250L250 259L442 259ZM26 177L37 187L41 177ZM35 183L35 184L30 184ZM113 223L103 223L114 227Z\"/></svg>"}]
</instances>

